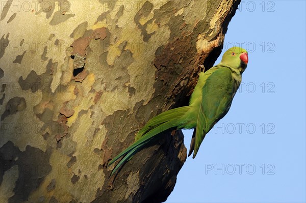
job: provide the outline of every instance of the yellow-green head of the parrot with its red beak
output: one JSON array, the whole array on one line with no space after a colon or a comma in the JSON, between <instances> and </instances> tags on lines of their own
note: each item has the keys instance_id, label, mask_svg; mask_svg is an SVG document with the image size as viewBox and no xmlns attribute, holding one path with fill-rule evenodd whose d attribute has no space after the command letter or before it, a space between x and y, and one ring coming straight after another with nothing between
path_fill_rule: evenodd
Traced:
<instances>
[{"instance_id":1,"label":"yellow-green head of the parrot with its red beak","mask_svg":"<svg viewBox=\"0 0 306 203\"><path fill-rule=\"evenodd\" d=\"M248 63L247 51L241 47L234 46L225 51L221 63L231 68L238 69L242 74Z\"/></svg>"}]
</instances>

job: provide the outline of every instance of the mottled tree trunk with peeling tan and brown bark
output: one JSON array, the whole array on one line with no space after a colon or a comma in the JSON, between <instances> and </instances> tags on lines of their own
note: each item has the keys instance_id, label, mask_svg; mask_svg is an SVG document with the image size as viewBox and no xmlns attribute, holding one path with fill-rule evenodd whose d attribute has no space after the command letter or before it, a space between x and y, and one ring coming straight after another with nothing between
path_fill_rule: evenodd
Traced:
<instances>
[{"instance_id":1,"label":"mottled tree trunk with peeling tan and brown bark","mask_svg":"<svg viewBox=\"0 0 306 203\"><path fill-rule=\"evenodd\" d=\"M188 105L239 2L1 1L0 201L165 201L181 131L115 176L107 164L150 118Z\"/></svg>"}]
</instances>

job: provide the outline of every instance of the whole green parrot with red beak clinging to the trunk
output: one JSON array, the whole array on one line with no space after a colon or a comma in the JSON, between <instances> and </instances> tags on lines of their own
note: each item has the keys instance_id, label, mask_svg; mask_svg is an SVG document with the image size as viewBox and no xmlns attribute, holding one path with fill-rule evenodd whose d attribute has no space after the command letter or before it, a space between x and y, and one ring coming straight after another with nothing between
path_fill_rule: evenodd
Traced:
<instances>
[{"instance_id":1,"label":"whole green parrot with red beak clinging to the trunk","mask_svg":"<svg viewBox=\"0 0 306 203\"><path fill-rule=\"evenodd\" d=\"M124 156L113 169L112 175L156 135L168 129L195 128L188 154L190 156L193 152L195 158L205 135L230 109L247 63L245 49L232 47L225 51L218 65L205 73L199 73L189 106L170 109L150 119L137 133L135 142L109 162L108 166Z\"/></svg>"}]
</instances>

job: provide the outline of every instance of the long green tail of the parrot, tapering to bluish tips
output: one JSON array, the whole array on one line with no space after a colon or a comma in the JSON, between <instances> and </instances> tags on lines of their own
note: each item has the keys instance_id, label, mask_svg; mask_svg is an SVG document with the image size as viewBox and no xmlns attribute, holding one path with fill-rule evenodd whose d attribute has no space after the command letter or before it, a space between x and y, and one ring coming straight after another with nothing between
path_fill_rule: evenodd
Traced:
<instances>
[{"instance_id":1,"label":"long green tail of the parrot, tapering to bluish tips","mask_svg":"<svg viewBox=\"0 0 306 203\"><path fill-rule=\"evenodd\" d=\"M109 162L108 166L125 155L113 169L112 175L123 163L128 161L134 154L141 150L142 147L157 134L173 127L180 127L181 118L189 109L189 106L170 109L149 120L148 123L137 133L135 142Z\"/></svg>"}]
</instances>

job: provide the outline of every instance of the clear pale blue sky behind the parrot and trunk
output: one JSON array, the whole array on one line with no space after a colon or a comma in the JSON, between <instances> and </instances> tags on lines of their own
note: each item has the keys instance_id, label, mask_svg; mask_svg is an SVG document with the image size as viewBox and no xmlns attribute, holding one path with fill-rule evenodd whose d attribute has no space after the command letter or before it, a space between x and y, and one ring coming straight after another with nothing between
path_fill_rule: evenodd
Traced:
<instances>
[{"instance_id":1,"label":"clear pale blue sky behind the parrot and trunk","mask_svg":"<svg viewBox=\"0 0 306 203\"><path fill-rule=\"evenodd\" d=\"M187 159L168 203L306 201L305 1L239 8L224 49L248 50L243 83L197 157ZM192 131L183 132L189 150Z\"/></svg>"}]
</instances>

